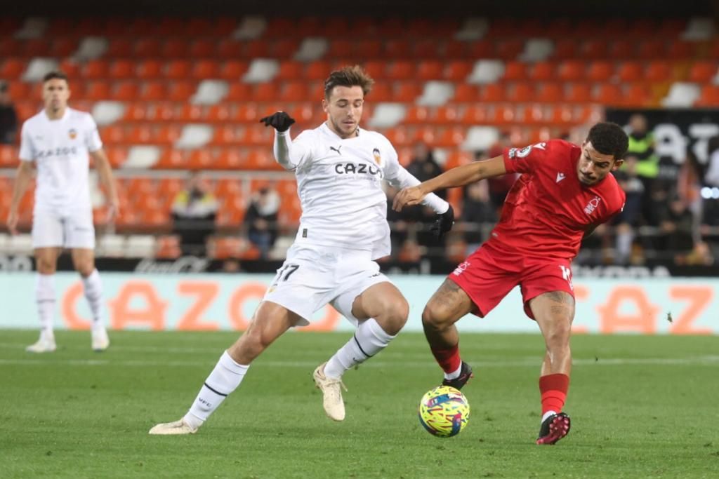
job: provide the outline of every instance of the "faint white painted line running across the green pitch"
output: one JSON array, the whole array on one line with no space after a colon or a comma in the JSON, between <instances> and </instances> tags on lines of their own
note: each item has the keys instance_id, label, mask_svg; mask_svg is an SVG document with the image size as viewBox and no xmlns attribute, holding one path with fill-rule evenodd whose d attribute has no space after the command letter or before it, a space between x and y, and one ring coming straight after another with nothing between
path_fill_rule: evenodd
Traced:
<instances>
[{"instance_id":1,"label":"faint white painted line running across the green pitch","mask_svg":"<svg viewBox=\"0 0 719 479\"><path fill-rule=\"evenodd\" d=\"M396 355L395 355L396 356ZM0 359L0 364L9 366L37 366L47 364L47 359L52 358L52 364L65 364L68 366L128 366L146 368L148 366L178 366L197 367L203 366L204 361L146 361L146 360L125 360L125 359L65 359L57 358L55 355L45 355L44 358L14 358ZM536 368L541 358L525 358L520 361L472 361L476 368ZM408 361L401 358L392 358L390 361L368 361L362 364L362 368L382 368L387 366L403 366L426 368L427 361ZM210 363L207 363L210 365ZM574 359L574 366L719 366L719 355L704 355L693 358L609 358L609 359ZM211 366L211 365L210 365ZM317 361L257 361L257 366L270 368L314 368Z\"/></svg>"}]
</instances>

